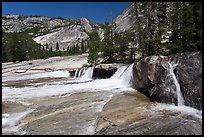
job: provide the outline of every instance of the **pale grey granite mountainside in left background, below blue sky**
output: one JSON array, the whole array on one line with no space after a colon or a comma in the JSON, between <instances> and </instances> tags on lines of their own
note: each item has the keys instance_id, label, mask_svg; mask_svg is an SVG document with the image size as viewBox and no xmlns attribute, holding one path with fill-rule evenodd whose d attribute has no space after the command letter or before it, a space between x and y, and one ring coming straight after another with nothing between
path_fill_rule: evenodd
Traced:
<instances>
[{"instance_id":1,"label":"pale grey granite mountainside in left background, below blue sky","mask_svg":"<svg viewBox=\"0 0 204 137\"><path fill-rule=\"evenodd\" d=\"M86 18L63 19L43 16L20 16L7 15L2 17L2 30L4 32L23 32L27 29L37 27L35 33L29 33L36 43L56 49L58 43L60 51L66 51L74 45L79 47L87 44L88 33L95 29L100 38L104 37L104 30L96 23L90 22ZM48 46L48 47L47 47Z\"/></svg>"}]
</instances>

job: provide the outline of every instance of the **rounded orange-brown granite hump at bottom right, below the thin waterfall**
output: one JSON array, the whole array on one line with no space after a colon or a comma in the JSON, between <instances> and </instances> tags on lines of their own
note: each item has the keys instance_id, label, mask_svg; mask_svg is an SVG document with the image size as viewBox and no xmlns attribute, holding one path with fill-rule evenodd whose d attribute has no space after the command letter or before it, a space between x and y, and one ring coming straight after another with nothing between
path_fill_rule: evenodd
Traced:
<instances>
[{"instance_id":1,"label":"rounded orange-brown granite hump at bottom right, below the thin waterfall","mask_svg":"<svg viewBox=\"0 0 204 137\"><path fill-rule=\"evenodd\" d=\"M96 135L201 135L202 119L157 110L139 92L118 94L98 116Z\"/></svg>"}]
</instances>

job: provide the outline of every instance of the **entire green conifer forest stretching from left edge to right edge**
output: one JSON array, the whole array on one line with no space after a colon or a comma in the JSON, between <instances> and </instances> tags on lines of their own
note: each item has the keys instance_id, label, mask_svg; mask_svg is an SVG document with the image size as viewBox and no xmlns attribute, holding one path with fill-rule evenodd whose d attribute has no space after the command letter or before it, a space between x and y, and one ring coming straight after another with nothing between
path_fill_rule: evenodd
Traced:
<instances>
[{"instance_id":1,"label":"entire green conifer forest stretching from left edge to right edge","mask_svg":"<svg viewBox=\"0 0 204 137\"><path fill-rule=\"evenodd\" d=\"M45 59L89 53L88 62L131 63L135 55L170 55L202 50L202 3L200 2L134 2L130 13L135 22L132 29L116 33L115 22L106 22L104 38L96 30L81 44L59 50L33 41L28 32L4 33L2 31L2 62Z\"/></svg>"}]
</instances>

